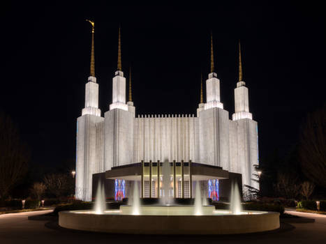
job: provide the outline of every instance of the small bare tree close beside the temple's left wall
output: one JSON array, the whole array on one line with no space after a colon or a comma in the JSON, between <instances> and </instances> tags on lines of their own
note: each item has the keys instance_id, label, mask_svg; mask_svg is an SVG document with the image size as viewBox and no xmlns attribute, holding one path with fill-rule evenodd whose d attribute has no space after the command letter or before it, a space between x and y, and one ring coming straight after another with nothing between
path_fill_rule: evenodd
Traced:
<instances>
[{"instance_id":1,"label":"small bare tree close beside the temple's left wall","mask_svg":"<svg viewBox=\"0 0 326 244\"><path fill-rule=\"evenodd\" d=\"M73 178L68 174L48 174L44 177L47 190L55 197L66 197L72 194Z\"/></svg>"}]
</instances>

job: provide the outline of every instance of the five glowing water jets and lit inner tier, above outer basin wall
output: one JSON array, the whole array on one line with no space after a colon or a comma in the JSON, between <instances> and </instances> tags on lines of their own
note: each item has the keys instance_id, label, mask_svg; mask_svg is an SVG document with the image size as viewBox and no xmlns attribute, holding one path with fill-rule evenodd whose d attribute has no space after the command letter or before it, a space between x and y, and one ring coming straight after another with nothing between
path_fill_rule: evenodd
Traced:
<instances>
[{"instance_id":1,"label":"five glowing water jets and lit inner tier, above outer basin wall","mask_svg":"<svg viewBox=\"0 0 326 244\"><path fill-rule=\"evenodd\" d=\"M138 181L133 183L132 201L127 206L120 206L119 210L105 211L105 192L101 182L98 183L94 211L73 211L74 213L89 213L103 215L247 215L261 214L261 211L242 211L241 198L238 185L232 184L230 197L230 211L215 210L214 206L207 204L205 192L201 192L200 181L195 183L195 203L193 206L173 205L170 195L170 162L165 160L162 166L162 194L160 205L142 206L140 205ZM203 193L203 194L202 194Z\"/></svg>"}]
</instances>

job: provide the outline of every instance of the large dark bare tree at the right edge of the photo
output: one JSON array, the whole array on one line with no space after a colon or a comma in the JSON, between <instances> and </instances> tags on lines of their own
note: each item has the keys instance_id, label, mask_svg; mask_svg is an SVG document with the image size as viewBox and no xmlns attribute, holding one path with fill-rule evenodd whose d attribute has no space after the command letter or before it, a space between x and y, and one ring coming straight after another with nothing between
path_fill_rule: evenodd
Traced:
<instances>
[{"instance_id":1,"label":"large dark bare tree at the right edge of the photo","mask_svg":"<svg viewBox=\"0 0 326 244\"><path fill-rule=\"evenodd\" d=\"M299 156L306 177L326 188L326 106L307 116Z\"/></svg>"}]
</instances>

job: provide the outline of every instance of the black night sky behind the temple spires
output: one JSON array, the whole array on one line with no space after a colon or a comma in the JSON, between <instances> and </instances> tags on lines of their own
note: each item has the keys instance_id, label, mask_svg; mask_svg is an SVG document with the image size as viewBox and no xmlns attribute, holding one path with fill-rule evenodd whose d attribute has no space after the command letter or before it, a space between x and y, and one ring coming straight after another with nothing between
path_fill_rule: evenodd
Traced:
<instances>
[{"instance_id":1,"label":"black night sky behind the temple spires","mask_svg":"<svg viewBox=\"0 0 326 244\"><path fill-rule=\"evenodd\" d=\"M75 158L76 119L89 76L96 22L100 108L112 100L121 23L122 66L133 72L136 114L195 114L200 73L209 72L209 32L221 102L234 112L237 42L258 121L260 158L287 151L307 112L325 103L325 13L317 3L221 1L206 6L110 6L18 3L1 6L0 109L13 117L33 161ZM216 1L219 2L219 1ZM199 2L198 2L199 3Z\"/></svg>"}]
</instances>

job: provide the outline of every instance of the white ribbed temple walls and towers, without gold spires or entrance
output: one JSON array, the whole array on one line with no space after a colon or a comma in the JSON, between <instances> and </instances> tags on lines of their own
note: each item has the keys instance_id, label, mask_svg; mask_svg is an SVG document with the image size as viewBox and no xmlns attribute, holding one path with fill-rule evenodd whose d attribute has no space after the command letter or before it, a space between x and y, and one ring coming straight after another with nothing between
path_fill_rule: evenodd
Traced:
<instances>
[{"instance_id":1,"label":"white ribbed temple walls and towers, without gold spires or entrance","mask_svg":"<svg viewBox=\"0 0 326 244\"><path fill-rule=\"evenodd\" d=\"M90 77L85 108L77 119L77 199L91 200L92 174L141 160L216 165L242 174L244 185L259 188L253 181L254 165L258 165L258 127L249 112L248 89L244 82L237 83L235 114L230 120L220 100L219 84L216 73L209 74L207 102L199 105L196 116L135 116L133 102L126 102L124 73L117 71L112 104L103 118L98 109L98 84Z\"/></svg>"}]
</instances>

